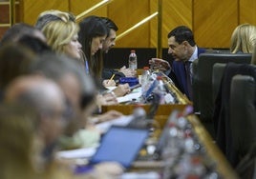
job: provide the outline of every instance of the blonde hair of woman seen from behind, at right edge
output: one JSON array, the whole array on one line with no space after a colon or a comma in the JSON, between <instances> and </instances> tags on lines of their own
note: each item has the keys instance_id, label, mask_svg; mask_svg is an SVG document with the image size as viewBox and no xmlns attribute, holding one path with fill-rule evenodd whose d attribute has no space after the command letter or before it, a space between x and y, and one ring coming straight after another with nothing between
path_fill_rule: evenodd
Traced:
<instances>
[{"instance_id":1,"label":"blonde hair of woman seen from behind, at right edge","mask_svg":"<svg viewBox=\"0 0 256 179\"><path fill-rule=\"evenodd\" d=\"M239 25L232 33L230 51L232 53L252 53L256 42L256 26Z\"/></svg>"}]
</instances>

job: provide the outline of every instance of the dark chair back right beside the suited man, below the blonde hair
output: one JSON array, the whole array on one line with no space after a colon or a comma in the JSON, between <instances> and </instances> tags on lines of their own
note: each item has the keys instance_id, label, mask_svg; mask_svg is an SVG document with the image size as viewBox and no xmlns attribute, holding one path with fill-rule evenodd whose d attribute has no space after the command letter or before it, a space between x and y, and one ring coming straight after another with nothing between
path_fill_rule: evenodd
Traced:
<instances>
[{"instance_id":1,"label":"dark chair back right beside the suited man, below the blonde hair","mask_svg":"<svg viewBox=\"0 0 256 179\"><path fill-rule=\"evenodd\" d=\"M251 54L247 53L202 53L199 59L193 62L193 105L195 111L200 111L202 121L212 122L213 116L213 91L212 91L212 70L216 63L245 63L249 64ZM194 97L195 96L195 97Z\"/></svg>"}]
</instances>

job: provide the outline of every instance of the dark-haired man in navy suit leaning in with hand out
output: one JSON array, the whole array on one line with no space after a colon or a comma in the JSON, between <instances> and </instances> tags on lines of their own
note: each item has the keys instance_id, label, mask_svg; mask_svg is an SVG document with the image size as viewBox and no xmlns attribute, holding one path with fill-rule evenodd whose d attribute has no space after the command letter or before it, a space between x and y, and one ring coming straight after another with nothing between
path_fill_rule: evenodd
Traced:
<instances>
[{"instance_id":1,"label":"dark-haired man in navy suit leaning in with hand out","mask_svg":"<svg viewBox=\"0 0 256 179\"><path fill-rule=\"evenodd\" d=\"M205 50L197 47L192 30L185 26L179 26L168 33L168 48L168 53L173 58L172 65L160 58L152 58L149 64L163 70L177 88L192 100L191 63Z\"/></svg>"}]
</instances>

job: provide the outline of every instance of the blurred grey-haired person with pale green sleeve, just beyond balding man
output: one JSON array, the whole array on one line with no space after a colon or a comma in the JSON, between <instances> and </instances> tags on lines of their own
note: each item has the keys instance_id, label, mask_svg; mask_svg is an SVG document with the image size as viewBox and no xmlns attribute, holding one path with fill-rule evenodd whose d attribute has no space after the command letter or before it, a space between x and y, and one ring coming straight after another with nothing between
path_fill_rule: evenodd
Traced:
<instances>
[{"instance_id":1,"label":"blurred grey-haired person with pale green sleeve, just beyond balding man","mask_svg":"<svg viewBox=\"0 0 256 179\"><path fill-rule=\"evenodd\" d=\"M91 76L79 68L78 62L65 55L45 54L32 66L32 73L52 79L63 90L69 113L65 130L64 149L85 148L98 145L99 131L88 129L88 123L104 122L122 115L116 110L92 117L96 110L96 84ZM86 128L86 129L85 129Z\"/></svg>"}]
</instances>

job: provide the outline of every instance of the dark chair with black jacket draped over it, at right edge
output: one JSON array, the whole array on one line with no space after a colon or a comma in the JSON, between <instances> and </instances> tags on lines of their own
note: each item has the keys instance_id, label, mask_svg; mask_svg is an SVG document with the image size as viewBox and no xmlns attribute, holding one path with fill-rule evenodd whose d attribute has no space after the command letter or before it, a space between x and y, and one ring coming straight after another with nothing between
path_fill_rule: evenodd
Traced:
<instances>
[{"instance_id":1,"label":"dark chair with black jacket draped over it, at right edge","mask_svg":"<svg viewBox=\"0 0 256 179\"><path fill-rule=\"evenodd\" d=\"M256 66L228 63L216 96L216 143L233 167L256 142L255 81Z\"/></svg>"}]
</instances>

